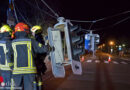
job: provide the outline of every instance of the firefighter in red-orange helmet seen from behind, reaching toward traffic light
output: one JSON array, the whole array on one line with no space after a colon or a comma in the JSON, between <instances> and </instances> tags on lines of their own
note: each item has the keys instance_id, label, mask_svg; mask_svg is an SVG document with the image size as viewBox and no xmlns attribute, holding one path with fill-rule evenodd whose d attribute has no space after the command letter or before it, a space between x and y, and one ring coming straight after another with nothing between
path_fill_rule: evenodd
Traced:
<instances>
[{"instance_id":1,"label":"firefighter in red-orange helmet seen from behind, reaching toward traffic light","mask_svg":"<svg viewBox=\"0 0 130 90\"><path fill-rule=\"evenodd\" d=\"M46 53L48 48L28 37L29 27L25 23L15 26L15 39L12 41L14 51L13 80L15 86L24 90L36 90L36 65L34 55Z\"/></svg>"}]
</instances>

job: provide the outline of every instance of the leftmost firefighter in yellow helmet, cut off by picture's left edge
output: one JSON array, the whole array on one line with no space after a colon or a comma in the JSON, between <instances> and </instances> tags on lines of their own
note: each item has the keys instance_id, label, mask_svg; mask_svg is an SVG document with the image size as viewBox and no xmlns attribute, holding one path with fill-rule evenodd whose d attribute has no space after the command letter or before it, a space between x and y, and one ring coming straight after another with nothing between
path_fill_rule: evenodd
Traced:
<instances>
[{"instance_id":1,"label":"leftmost firefighter in yellow helmet, cut off by picture's left edge","mask_svg":"<svg viewBox=\"0 0 130 90\"><path fill-rule=\"evenodd\" d=\"M0 72L4 79L2 86L11 86L11 66L13 65L12 47L11 47L11 28L9 25L3 25L0 28Z\"/></svg>"}]
</instances>

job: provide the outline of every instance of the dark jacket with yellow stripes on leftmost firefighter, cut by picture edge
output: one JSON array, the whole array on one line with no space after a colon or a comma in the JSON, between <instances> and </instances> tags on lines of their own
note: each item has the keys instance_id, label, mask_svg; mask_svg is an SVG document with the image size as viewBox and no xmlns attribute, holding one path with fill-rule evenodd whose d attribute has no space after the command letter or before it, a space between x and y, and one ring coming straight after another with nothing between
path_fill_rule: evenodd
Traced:
<instances>
[{"instance_id":1,"label":"dark jacket with yellow stripes on leftmost firefighter, cut by picture edge","mask_svg":"<svg viewBox=\"0 0 130 90\"><path fill-rule=\"evenodd\" d=\"M0 34L0 70L10 71L13 65L11 38L8 32Z\"/></svg>"}]
</instances>

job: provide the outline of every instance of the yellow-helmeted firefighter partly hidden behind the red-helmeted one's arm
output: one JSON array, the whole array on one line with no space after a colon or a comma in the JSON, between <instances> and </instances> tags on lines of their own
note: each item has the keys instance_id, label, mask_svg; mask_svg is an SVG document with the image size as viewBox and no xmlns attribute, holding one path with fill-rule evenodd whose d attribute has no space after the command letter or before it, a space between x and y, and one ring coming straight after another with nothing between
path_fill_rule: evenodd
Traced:
<instances>
[{"instance_id":1,"label":"yellow-helmeted firefighter partly hidden behind the red-helmeted one's arm","mask_svg":"<svg viewBox=\"0 0 130 90\"><path fill-rule=\"evenodd\" d=\"M32 35L34 36L34 38L36 39L36 41L38 41L39 43L41 43L42 45L45 45L44 40L43 40L43 36L42 36L42 27L39 25L35 25L31 28L31 32ZM46 65L44 63L45 57L47 56L47 53L44 54L37 54L35 56L35 60L36 60L36 67L37 67L37 74L38 74L38 88L42 87L42 84L40 84L40 82L42 81L42 75L45 73L46 71Z\"/></svg>"}]
</instances>

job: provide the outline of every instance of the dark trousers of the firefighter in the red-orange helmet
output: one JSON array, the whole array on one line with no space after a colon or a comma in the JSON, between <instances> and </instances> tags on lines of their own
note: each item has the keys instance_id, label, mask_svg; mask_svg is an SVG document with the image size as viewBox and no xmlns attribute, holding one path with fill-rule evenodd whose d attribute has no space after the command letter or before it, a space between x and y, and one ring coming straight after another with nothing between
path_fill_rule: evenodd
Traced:
<instances>
[{"instance_id":1,"label":"dark trousers of the firefighter in the red-orange helmet","mask_svg":"<svg viewBox=\"0 0 130 90\"><path fill-rule=\"evenodd\" d=\"M18 90L37 90L36 74L16 74L13 75L13 81L14 88L19 88Z\"/></svg>"}]
</instances>

